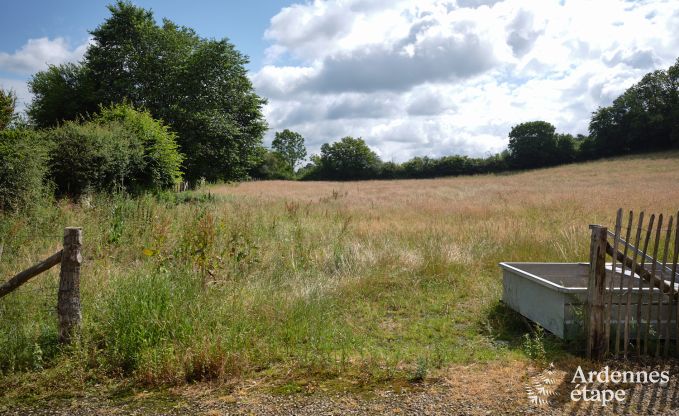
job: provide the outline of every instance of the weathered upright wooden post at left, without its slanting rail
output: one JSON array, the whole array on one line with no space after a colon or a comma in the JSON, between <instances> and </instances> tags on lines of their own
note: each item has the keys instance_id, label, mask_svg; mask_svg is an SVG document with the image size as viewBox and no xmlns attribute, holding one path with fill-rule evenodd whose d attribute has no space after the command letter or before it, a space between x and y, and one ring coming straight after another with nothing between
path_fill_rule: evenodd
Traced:
<instances>
[{"instance_id":1,"label":"weathered upright wooden post at left, without its slanting rail","mask_svg":"<svg viewBox=\"0 0 679 416\"><path fill-rule=\"evenodd\" d=\"M82 263L82 228L64 229L64 249L59 279L59 342L68 344L80 328L80 264Z\"/></svg>"}]
</instances>

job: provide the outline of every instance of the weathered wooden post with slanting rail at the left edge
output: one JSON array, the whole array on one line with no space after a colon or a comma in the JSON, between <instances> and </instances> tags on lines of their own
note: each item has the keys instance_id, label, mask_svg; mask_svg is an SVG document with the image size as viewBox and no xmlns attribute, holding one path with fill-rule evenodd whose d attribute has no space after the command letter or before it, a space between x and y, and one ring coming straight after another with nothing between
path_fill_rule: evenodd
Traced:
<instances>
[{"instance_id":1,"label":"weathered wooden post with slanting rail at the left edge","mask_svg":"<svg viewBox=\"0 0 679 416\"><path fill-rule=\"evenodd\" d=\"M47 259L29 267L0 285L0 298L8 295L33 277L57 264L61 265L57 314L59 316L59 341L69 343L80 327L80 266L82 264L82 229L64 229L63 248Z\"/></svg>"}]
</instances>

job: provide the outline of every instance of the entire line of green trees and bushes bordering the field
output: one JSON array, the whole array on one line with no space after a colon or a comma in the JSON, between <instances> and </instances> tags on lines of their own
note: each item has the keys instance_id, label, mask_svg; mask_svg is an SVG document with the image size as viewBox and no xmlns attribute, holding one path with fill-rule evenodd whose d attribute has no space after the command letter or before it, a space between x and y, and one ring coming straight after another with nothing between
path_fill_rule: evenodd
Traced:
<instances>
[{"instance_id":1,"label":"entire line of green trees and bushes bordering the field","mask_svg":"<svg viewBox=\"0 0 679 416\"><path fill-rule=\"evenodd\" d=\"M131 194L179 181L431 178L554 166L679 146L679 60L593 114L588 136L545 121L514 126L501 153L384 162L361 138L325 143L309 156L297 132L268 129L247 77L248 58L228 39L119 0L92 32L78 63L33 75L26 117L0 90L0 210L41 195Z\"/></svg>"}]
</instances>

